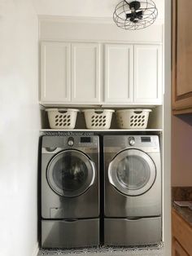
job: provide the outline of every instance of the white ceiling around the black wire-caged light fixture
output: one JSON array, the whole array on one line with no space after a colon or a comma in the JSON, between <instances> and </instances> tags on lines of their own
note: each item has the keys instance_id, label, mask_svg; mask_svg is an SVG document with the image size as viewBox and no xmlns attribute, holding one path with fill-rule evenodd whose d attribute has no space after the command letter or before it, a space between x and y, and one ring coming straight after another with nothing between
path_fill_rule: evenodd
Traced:
<instances>
[{"instance_id":1,"label":"white ceiling around the black wire-caged light fixture","mask_svg":"<svg viewBox=\"0 0 192 256\"><path fill-rule=\"evenodd\" d=\"M121 0L32 0L38 15L111 17ZM153 0L159 20L164 20L164 1Z\"/></svg>"}]
</instances>

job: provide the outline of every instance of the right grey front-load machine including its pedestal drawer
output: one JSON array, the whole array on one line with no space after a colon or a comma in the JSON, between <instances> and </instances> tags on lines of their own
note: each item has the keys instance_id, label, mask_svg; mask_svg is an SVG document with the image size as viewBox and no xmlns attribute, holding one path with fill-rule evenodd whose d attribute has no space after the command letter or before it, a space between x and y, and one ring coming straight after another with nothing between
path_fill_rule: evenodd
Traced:
<instances>
[{"instance_id":1,"label":"right grey front-load machine including its pedestal drawer","mask_svg":"<svg viewBox=\"0 0 192 256\"><path fill-rule=\"evenodd\" d=\"M157 135L106 135L104 244L152 245L162 237Z\"/></svg>"}]
</instances>

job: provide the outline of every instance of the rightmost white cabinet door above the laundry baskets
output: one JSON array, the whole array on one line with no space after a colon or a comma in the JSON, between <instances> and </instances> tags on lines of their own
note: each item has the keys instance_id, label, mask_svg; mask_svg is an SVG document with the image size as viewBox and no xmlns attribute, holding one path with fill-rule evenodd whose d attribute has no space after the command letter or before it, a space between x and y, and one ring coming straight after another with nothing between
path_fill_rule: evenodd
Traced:
<instances>
[{"instance_id":1,"label":"rightmost white cabinet door above the laundry baskets","mask_svg":"<svg viewBox=\"0 0 192 256\"><path fill-rule=\"evenodd\" d=\"M162 51L157 45L134 46L134 91L136 104L162 104Z\"/></svg>"}]
</instances>

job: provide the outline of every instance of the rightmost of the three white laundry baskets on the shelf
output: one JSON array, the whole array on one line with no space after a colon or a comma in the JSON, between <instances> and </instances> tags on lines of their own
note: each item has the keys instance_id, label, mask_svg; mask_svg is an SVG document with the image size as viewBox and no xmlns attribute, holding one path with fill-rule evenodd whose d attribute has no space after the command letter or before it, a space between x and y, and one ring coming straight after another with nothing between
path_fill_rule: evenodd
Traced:
<instances>
[{"instance_id":1,"label":"rightmost of the three white laundry baskets on the shelf","mask_svg":"<svg viewBox=\"0 0 192 256\"><path fill-rule=\"evenodd\" d=\"M116 111L120 129L146 129L151 109L122 109Z\"/></svg>"}]
</instances>

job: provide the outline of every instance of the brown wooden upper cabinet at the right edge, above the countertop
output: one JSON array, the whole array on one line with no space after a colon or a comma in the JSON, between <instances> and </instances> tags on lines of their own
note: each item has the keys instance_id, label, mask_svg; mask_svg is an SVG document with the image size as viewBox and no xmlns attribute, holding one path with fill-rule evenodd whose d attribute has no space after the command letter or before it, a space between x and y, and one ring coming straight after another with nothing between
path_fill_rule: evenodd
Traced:
<instances>
[{"instance_id":1,"label":"brown wooden upper cabinet at the right edge, above the countertop","mask_svg":"<svg viewBox=\"0 0 192 256\"><path fill-rule=\"evenodd\" d=\"M183 113L192 113L191 10L192 1L172 0L172 108Z\"/></svg>"}]
</instances>

